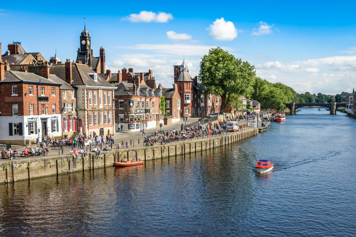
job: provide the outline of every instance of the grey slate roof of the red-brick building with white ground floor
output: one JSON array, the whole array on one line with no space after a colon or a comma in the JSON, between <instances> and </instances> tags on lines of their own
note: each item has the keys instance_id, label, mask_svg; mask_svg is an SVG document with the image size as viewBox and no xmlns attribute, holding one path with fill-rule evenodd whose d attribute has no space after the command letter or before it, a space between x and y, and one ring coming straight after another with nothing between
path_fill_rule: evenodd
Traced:
<instances>
[{"instance_id":1,"label":"grey slate roof of the red-brick building with white ground floor","mask_svg":"<svg viewBox=\"0 0 356 237\"><path fill-rule=\"evenodd\" d=\"M52 75L52 78L54 78L55 75ZM61 82L57 82L54 80L51 80L51 75L50 79L47 79L45 77L42 77L40 75L37 75L32 72L20 72L20 71L5 71L5 79L1 80L0 83L4 82L16 82L16 81L28 81L28 82L34 82L34 83L43 83L43 84L62 84Z\"/></svg>"}]
</instances>

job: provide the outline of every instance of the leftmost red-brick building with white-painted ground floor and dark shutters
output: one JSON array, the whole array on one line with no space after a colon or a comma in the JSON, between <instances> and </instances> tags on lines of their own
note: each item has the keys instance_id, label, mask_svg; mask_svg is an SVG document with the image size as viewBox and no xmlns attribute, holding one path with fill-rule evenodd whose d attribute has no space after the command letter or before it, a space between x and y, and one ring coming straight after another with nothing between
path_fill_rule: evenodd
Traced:
<instances>
[{"instance_id":1,"label":"leftmost red-brick building with white-painted ground floor and dark shutters","mask_svg":"<svg viewBox=\"0 0 356 237\"><path fill-rule=\"evenodd\" d=\"M48 63L38 68L40 75L25 67L10 71L5 66L0 58L0 142L25 145L43 135L61 136L61 84L49 74Z\"/></svg>"}]
</instances>

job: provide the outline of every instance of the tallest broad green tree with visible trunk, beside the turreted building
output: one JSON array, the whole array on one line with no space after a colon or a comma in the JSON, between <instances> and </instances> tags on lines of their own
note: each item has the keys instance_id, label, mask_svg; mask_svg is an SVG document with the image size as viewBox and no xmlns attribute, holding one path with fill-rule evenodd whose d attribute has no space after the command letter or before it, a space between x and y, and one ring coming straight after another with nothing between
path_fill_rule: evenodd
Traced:
<instances>
[{"instance_id":1,"label":"tallest broad green tree with visible trunk, beside the turreted building","mask_svg":"<svg viewBox=\"0 0 356 237\"><path fill-rule=\"evenodd\" d=\"M220 47L211 48L200 62L200 85L206 88L206 94L221 97L220 112L224 112L231 95L251 96L255 76L253 65Z\"/></svg>"}]
</instances>

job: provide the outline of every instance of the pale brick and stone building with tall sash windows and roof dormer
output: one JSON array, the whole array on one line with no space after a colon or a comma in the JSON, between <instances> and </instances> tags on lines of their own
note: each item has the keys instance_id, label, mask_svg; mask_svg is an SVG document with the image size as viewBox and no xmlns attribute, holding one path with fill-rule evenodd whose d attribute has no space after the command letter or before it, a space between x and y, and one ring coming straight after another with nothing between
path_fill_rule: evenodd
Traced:
<instances>
[{"instance_id":1,"label":"pale brick and stone building with tall sash windows and roof dormer","mask_svg":"<svg viewBox=\"0 0 356 237\"><path fill-rule=\"evenodd\" d=\"M74 130L75 128L77 131L83 129L80 133L85 135L94 131L96 134L115 133L113 96L116 87L105 81L88 65L72 63L69 59L65 64L52 64L50 71L76 90L74 98L77 98L75 113L77 113L78 122L73 116ZM66 94L66 98L68 96L72 99L72 94ZM63 103L65 103L64 100ZM73 101L66 103L73 103ZM67 113L69 113L68 107L67 104ZM66 126L66 120L63 121L63 126ZM70 124L67 124L67 128L68 126L70 128Z\"/></svg>"}]
</instances>

